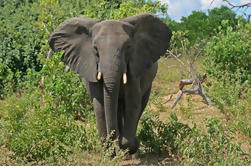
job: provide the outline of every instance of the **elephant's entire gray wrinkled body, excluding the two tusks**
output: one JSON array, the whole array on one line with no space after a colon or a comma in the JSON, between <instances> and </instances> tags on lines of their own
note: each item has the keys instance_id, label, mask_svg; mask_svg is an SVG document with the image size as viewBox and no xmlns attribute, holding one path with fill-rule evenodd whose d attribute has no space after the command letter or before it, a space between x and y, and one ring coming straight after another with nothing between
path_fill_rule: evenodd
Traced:
<instances>
[{"instance_id":1,"label":"elephant's entire gray wrinkled body, excluding the two tusks","mask_svg":"<svg viewBox=\"0 0 251 166\"><path fill-rule=\"evenodd\" d=\"M115 131L113 139L118 138L120 148L137 151L138 121L149 99L157 60L171 36L170 29L150 14L106 21L71 18L52 33L51 48L64 50L64 63L85 81L101 139Z\"/></svg>"}]
</instances>

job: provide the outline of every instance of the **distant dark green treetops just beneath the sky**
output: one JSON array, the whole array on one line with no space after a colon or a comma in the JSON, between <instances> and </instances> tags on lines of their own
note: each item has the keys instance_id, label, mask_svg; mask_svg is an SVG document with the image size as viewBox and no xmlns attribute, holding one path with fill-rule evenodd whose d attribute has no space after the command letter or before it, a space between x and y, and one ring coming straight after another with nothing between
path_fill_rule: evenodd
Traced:
<instances>
[{"instance_id":1,"label":"distant dark green treetops just beneath the sky","mask_svg":"<svg viewBox=\"0 0 251 166\"><path fill-rule=\"evenodd\" d=\"M209 10L208 15L204 12L193 11L188 17L182 17L180 23L169 22L173 31L188 31L186 37L193 45L198 40L217 34L217 28L223 20L228 20L229 26L233 28L237 25L236 14L226 6Z\"/></svg>"}]
</instances>

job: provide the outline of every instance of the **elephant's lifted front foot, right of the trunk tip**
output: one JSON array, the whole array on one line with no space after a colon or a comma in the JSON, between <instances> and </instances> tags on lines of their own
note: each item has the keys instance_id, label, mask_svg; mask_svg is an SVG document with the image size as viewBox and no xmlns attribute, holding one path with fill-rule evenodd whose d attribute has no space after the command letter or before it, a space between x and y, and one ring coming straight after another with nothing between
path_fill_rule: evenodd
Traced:
<instances>
[{"instance_id":1,"label":"elephant's lifted front foot, right of the trunk tip","mask_svg":"<svg viewBox=\"0 0 251 166\"><path fill-rule=\"evenodd\" d=\"M136 151L139 149L139 140L137 137L130 140L122 137L119 141L119 147L123 150L127 149L130 154L136 153Z\"/></svg>"}]
</instances>

